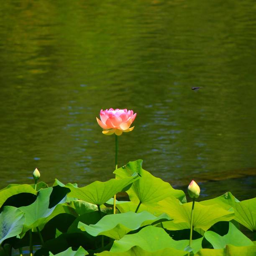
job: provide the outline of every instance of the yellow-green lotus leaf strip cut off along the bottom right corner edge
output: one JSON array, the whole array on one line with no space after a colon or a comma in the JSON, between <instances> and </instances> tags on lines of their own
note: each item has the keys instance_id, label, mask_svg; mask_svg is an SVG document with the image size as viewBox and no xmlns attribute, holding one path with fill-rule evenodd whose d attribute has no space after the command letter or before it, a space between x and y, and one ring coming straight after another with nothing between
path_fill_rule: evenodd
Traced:
<instances>
[{"instance_id":1,"label":"yellow-green lotus leaf strip cut off along the bottom right corner edge","mask_svg":"<svg viewBox=\"0 0 256 256\"><path fill-rule=\"evenodd\" d=\"M195 256L253 256L256 246L227 245L224 249L201 249Z\"/></svg>"}]
</instances>

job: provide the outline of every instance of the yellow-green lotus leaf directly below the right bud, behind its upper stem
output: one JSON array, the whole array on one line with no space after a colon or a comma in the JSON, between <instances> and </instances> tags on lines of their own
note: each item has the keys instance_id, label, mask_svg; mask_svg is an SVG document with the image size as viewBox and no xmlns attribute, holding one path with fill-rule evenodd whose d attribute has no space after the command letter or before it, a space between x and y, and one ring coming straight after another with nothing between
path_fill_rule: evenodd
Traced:
<instances>
[{"instance_id":1,"label":"yellow-green lotus leaf directly below the right bud, behind its upper stem","mask_svg":"<svg viewBox=\"0 0 256 256\"><path fill-rule=\"evenodd\" d=\"M190 228L192 202L180 204L178 200L166 198L158 203L159 208L166 212L172 222L163 223L164 228L169 230L181 230ZM224 210L220 205L201 205L195 202L193 227L208 230L214 223L229 221L234 218L234 212Z\"/></svg>"}]
</instances>

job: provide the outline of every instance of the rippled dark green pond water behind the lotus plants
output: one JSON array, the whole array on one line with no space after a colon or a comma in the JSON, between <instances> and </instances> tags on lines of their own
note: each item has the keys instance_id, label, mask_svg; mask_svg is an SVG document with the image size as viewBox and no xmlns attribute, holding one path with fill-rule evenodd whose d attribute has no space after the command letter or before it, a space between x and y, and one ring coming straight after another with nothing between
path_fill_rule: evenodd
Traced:
<instances>
[{"instance_id":1,"label":"rippled dark green pond water behind the lotus plants","mask_svg":"<svg viewBox=\"0 0 256 256\"><path fill-rule=\"evenodd\" d=\"M137 113L119 166L256 196L256 3L3 1L0 186L113 178L100 109ZM191 87L204 87L191 90Z\"/></svg>"}]
</instances>

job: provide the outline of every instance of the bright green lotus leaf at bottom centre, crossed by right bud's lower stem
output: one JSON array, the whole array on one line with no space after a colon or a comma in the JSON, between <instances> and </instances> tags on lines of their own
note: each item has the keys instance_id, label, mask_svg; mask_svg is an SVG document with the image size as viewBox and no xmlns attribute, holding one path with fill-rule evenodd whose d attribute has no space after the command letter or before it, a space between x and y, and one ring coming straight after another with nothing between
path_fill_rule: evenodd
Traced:
<instances>
[{"instance_id":1,"label":"bright green lotus leaf at bottom centre, crossed by right bud's lower stem","mask_svg":"<svg viewBox=\"0 0 256 256\"><path fill-rule=\"evenodd\" d=\"M194 253L202 249L202 238L192 241L192 250ZM164 248L174 248L184 250L189 244L189 240L173 240L163 228L146 226L138 233L125 235L120 240L115 240L111 247L111 252L125 252L133 246L138 246L145 251L155 252Z\"/></svg>"}]
</instances>

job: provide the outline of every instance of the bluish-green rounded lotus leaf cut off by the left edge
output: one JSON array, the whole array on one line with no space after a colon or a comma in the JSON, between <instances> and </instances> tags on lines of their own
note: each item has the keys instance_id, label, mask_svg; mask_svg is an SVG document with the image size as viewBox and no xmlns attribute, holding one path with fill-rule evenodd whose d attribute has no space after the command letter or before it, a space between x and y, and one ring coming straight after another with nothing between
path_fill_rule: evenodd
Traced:
<instances>
[{"instance_id":1,"label":"bluish-green rounded lotus leaf cut off by the left edge","mask_svg":"<svg viewBox=\"0 0 256 256\"><path fill-rule=\"evenodd\" d=\"M16 207L5 206L0 214L0 244L7 238L17 236L24 225L24 213Z\"/></svg>"}]
</instances>

